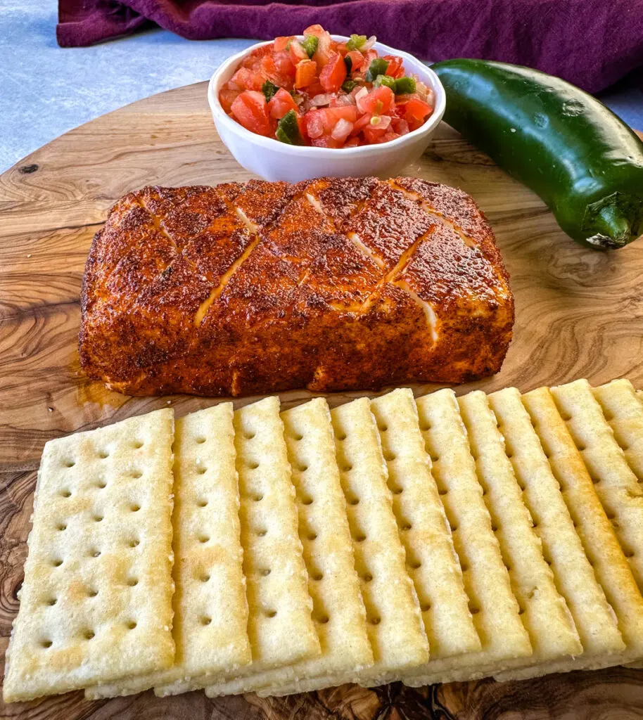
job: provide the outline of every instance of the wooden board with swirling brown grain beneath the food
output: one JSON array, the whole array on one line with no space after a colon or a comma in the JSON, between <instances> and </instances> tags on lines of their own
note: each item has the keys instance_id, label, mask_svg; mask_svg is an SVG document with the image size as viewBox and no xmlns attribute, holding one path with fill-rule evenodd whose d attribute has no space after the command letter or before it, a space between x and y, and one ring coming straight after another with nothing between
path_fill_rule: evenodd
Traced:
<instances>
[{"instance_id":1,"label":"wooden board with swirling brown grain beneath the food","mask_svg":"<svg viewBox=\"0 0 643 720\"><path fill-rule=\"evenodd\" d=\"M22 582L35 477L50 438L171 404L178 415L217 400L128 398L79 372L78 294L87 252L109 207L146 184L245 180L212 125L205 84L153 96L66 133L0 176L0 652ZM516 295L502 371L462 385L522 391L587 377L643 387L643 240L616 253L581 248L544 204L444 123L405 174L461 187L489 218ZM416 395L430 385L415 386ZM328 397L331 405L361 393ZM282 394L285 406L310 393ZM238 407L256 398L235 399ZM612 668L522 683L414 690L352 685L290 698L210 700L152 693L89 703L82 693L3 706L0 718L107 719L642 718L643 671Z\"/></svg>"}]
</instances>

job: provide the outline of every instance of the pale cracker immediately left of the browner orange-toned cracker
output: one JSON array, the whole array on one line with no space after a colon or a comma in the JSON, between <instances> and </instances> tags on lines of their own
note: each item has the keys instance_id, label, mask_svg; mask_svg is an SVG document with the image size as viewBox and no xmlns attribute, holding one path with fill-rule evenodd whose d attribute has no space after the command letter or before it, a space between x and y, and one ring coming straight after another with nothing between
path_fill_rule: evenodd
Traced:
<instances>
[{"instance_id":1,"label":"pale cracker immediately left of the browner orange-toned cracker","mask_svg":"<svg viewBox=\"0 0 643 720\"><path fill-rule=\"evenodd\" d=\"M508 670L496 678L528 678L580 667L614 665L625 649L616 616L596 581L521 395L515 387L508 387L489 395L488 400L504 437L523 502L554 573L556 588L567 601L583 644L580 657Z\"/></svg>"}]
</instances>

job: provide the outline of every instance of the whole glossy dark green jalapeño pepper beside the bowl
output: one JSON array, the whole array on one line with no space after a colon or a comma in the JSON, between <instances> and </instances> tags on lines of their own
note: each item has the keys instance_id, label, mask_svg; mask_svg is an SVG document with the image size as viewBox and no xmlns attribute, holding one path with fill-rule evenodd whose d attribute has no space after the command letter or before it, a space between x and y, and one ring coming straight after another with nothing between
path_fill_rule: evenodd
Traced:
<instances>
[{"instance_id":1,"label":"whole glossy dark green jalape\u00f1o pepper beside the bowl","mask_svg":"<svg viewBox=\"0 0 643 720\"><path fill-rule=\"evenodd\" d=\"M531 68L467 59L432 68L444 120L539 194L567 235L608 250L643 233L643 142L601 102Z\"/></svg>"}]
</instances>

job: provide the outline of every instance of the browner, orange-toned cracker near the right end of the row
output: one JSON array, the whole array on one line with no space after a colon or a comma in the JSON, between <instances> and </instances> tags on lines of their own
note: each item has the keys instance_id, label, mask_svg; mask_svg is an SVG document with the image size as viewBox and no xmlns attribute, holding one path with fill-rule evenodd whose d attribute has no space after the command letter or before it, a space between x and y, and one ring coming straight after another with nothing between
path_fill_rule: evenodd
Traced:
<instances>
[{"instance_id":1,"label":"browner, orange-toned cracker near the right end of the row","mask_svg":"<svg viewBox=\"0 0 643 720\"><path fill-rule=\"evenodd\" d=\"M595 492L583 457L547 387L522 396L541 446L559 482L585 554L616 613L626 657L643 657L643 598L613 526Z\"/></svg>"}]
</instances>

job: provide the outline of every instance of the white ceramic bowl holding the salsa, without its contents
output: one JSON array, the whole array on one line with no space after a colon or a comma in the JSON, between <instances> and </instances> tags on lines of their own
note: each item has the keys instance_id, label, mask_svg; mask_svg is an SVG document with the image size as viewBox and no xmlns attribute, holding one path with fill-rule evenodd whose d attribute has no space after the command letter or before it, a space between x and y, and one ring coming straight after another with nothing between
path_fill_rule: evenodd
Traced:
<instances>
[{"instance_id":1,"label":"white ceramic bowl holding the salsa, without its contents","mask_svg":"<svg viewBox=\"0 0 643 720\"><path fill-rule=\"evenodd\" d=\"M301 36L300 36L301 37ZM333 35L333 40L346 41L343 35ZM210 78L207 99L212 109L212 117L221 140L225 143L235 160L246 170L261 175L266 180L286 180L297 182L324 176L363 177L367 175L392 176L407 163L419 158L426 150L428 141L444 115L444 87L438 76L413 55L401 50L389 48L382 42L376 42L375 50L379 55L400 55L404 59L407 73L417 75L424 84L433 90L435 107L429 119L401 138L381 145L364 145L359 148L310 148L280 143L274 138L265 138L246 130L236 120L225 114L219 102L219 90L238 68L241 60L261 45L258 42L243 53L225 60Z\"/></svg>"}]
</instances>

